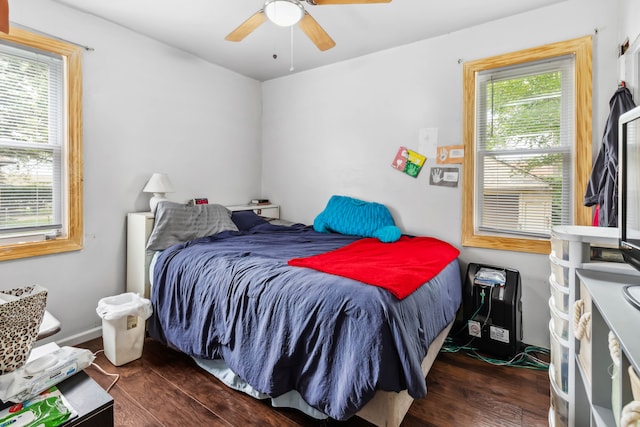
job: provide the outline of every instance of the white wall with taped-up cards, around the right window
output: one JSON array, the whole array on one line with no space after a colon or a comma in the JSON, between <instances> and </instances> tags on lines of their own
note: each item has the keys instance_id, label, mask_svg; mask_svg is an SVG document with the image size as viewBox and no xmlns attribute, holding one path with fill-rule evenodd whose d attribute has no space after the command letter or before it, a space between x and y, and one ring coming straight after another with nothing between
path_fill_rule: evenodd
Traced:
<instances>
[{"instance_id":1,"label":"white wall with taped-up cards, around the right window","mask_svg":"<svg viewBox=\"0 0 640 427\"><path fill-rule=\"evenodd\" d=\"M281 204L284 218L305 223L313 221L332 194L377 201L390 207L404 231L460 247L461 186L429 186L433 159L417 179L394 170L390 164L398 147L415 148L421 127L438 128L441 145L461 144L459 60L593 35L595 156L617 85L616 6L609 0L567 0L265 82L262 194ZM548 257L461 249L465 265L487 263L520 271L524 341L548 347Z\"/></svg>"}]
</instances>

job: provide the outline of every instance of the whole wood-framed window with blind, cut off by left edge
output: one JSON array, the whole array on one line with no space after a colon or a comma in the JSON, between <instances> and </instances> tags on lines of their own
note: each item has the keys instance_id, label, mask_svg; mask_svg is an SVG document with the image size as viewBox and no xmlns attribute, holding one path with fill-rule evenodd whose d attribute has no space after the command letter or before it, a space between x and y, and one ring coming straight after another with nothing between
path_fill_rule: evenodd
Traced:
<instances>
[{"instance_id":1,"label":"whole wood-framed window with blind, cut off by left edge","mask_svg":"<svg viewBox=\"0 0 640 427\"><path fill-rule=\"evenodd\" d=\"M81 49L0 35L0 260L82 248Z\"/></svg>"}]
</instances>

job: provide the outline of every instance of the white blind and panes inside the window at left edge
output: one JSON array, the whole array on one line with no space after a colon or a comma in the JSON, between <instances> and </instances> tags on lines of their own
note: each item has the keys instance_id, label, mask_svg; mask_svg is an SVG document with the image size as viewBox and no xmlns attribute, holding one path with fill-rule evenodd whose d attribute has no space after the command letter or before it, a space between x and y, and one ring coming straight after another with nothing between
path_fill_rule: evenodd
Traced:
<instances>
[{"instance_id":1,"label":"white blind and panes inside the window at left edge","mask_svg":"<svg viewBox=\"0 0 640 427\"><path fill-rule=\"evenodd\" d=\"M0 44L0 239L64 234L64 61Z\"/></svg>"}]
</instances>

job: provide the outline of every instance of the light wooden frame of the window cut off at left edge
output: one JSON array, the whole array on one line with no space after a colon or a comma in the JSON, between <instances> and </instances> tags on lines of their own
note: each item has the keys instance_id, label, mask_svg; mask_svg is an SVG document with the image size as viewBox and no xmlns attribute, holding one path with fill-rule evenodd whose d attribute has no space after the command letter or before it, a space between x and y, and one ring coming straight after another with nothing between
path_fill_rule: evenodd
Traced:
<instances>
[{"instance_id":1,"label":"light wooden frame of the window cut off at left edge","mask_svg":"<svg viewBox=\"0 0 640 427\"><path fill-rule=\"evenodd\" d=\"M0 261L82 249L82 49L60 40L11 27L0 39L60 55L64 61L66 158L66 235L51 240L0 246Z\"/></svg>"}]
</instances>

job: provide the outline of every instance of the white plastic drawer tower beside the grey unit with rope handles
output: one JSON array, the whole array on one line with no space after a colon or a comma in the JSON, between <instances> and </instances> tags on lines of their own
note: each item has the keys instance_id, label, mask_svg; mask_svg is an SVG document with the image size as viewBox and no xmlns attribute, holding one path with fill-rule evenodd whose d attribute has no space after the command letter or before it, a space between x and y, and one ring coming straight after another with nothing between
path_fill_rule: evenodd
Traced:
<instances>
[{"instance_id":1,"label":"white plastic drawer tower beside the grey unit with rope handles","mask_svg":"<svg viewBox=\"0 0 640 427\"><path fill-rule=\"evenodd\" d=\"M588 411L584 406L583 379L590 381L591 340L589 322L592 315L590 293L585 290L578 273L597 271L602 274L638 274L624 263L592 259L598 248L618 247L618 229L590 226L554 227L551 238L551 275L549 285L549 333L551 341L551 407L549 425L555 427L589 426ZM584 326L578 330L575 324ZM586 332L585 332L586 328ZM608 351L608 350L607 350ZM609 359L610 360L610 359ZM582 402L582 403L581 403ZM598 424L600 425L600 424ZM608 424L602 424L608 425ZM612 426L613 427L613 426Z\"/></svg>"}]
</instances>

